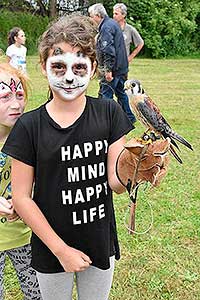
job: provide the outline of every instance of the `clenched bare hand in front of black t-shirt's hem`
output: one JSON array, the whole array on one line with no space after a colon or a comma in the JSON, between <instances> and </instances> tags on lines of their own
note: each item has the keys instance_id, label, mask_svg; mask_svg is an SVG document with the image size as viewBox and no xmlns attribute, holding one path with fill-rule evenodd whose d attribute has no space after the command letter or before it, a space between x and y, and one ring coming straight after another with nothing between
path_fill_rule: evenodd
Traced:
<instances>
[{"instance_id":1,"label":"clenched bare hand in front of black t-shirt's hem","mask_svg":"<svg viewBox=\"0 0 200 300\"><path fill-rule=\"evenodd\" d=\"M67 245L57 255L57 258L65 272L81 272L86 270L92 263L90 258L83 252Z\"/></svg>"}]
</instances>

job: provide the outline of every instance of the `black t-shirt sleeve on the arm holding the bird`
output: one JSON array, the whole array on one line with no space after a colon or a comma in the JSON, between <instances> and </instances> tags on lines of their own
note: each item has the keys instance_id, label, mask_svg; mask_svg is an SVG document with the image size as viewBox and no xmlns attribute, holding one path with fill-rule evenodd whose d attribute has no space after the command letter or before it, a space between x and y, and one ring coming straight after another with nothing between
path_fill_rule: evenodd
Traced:
<instances>
[{"instance_id":1,"label":"black t-shirt sleeve on the arm holding the bird","mask_svg":"<svg viewBox=\"0 0 200 300\"><path fill-rule=\"evenodd\" d=\"M111 101L111 132L109 144L113 144L122 136L128 134L132 129L133 125L127 117L126 113L122 110L121 106L116 101Z\"/></svg>"}]
</instances>

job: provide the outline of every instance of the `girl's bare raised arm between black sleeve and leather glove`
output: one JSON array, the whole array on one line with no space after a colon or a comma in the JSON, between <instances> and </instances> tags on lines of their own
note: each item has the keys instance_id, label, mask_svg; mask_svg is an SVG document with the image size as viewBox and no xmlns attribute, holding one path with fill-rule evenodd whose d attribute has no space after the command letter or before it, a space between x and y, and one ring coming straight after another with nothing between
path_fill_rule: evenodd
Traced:
<instances>
[{"instance_id":1,"label":"girl's bare raised arm between black sleeve and leather glove","mask_svg":"<svg viewBox=\"0 0 200 300\"><path fill-rule=\"evenodd\" d=\"M121 194L126 191L125 187L119 182L116 175L116 162L120 152L123 150L123 146L126 143L125 136L111 144L108 148L108 183L110 188L117 194Z\"/></svg>"}]
</instances>

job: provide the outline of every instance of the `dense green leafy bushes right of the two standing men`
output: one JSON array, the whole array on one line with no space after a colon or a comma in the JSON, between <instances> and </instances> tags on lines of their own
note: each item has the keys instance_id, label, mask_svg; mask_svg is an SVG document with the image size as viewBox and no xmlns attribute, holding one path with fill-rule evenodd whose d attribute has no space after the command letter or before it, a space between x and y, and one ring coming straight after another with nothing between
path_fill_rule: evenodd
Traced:
<instances>
[{"instance_id":1,"label":"dense green leafy bushes right of the two standing men","mask_svg":"<svg viewBox=\"0 0 200 300\"><path fill-rule=\"evenodd\" d=\"M104 3L112 16L117 1ZM199 0L124 0L127 22L135 26L145 42L145 55L167 57L199 51Z\"/></svg>"}]
</instances>

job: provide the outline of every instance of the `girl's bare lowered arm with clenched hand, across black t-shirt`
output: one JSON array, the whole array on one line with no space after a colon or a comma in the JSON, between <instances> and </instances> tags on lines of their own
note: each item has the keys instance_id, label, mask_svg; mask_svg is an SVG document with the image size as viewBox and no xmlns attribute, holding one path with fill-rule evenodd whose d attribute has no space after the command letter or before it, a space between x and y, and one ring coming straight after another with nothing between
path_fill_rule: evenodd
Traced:
<instances>
[{"instance_id":1,"label":"girl's bare lowered arm with clenched hand, across black t-shirt","mask_svg":"<svg viewBox=\"0 0 200 300\"><path fill-rule=\"evenodd\" d=\"M47 219L32 200L34 168L12 159L12 195L15 210L33 232L58 258L66 272L79 272L91 264L83 252L69 247L52 229Z\"/></svg>"}]
</instances>

